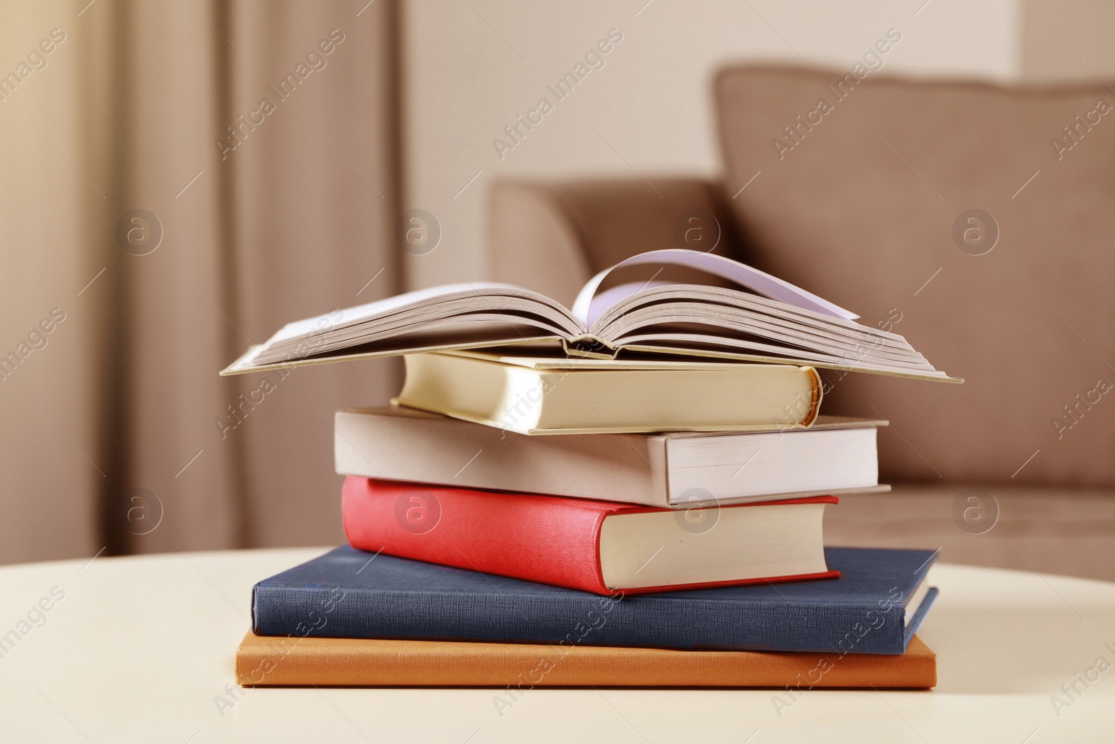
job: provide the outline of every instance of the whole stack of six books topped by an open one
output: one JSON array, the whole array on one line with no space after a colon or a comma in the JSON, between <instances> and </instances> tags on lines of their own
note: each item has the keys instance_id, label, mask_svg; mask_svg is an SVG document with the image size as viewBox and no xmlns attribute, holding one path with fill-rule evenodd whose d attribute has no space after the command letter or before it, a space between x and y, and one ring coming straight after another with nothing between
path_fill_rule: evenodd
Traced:
<instances>
[{"instance_id":1,"label":"whole stack of six books topped by an open one","mask_svg":"<svg viewBox=\"0 0 1115 744\"><path fill-rule=\"evenodd\" d=\"M291 323L225 370L407 368L391 407L338 412L349 544L254 587L241 685L501 687L507 706L544 686L935 685L914 635L935 553L824 547L826 508L888 490L886 423L820 415L817 367L953 378L743 264L629 261L750 291L598 296L601 272L571 312L437 288Z\"/></svg>"}]
</instances>

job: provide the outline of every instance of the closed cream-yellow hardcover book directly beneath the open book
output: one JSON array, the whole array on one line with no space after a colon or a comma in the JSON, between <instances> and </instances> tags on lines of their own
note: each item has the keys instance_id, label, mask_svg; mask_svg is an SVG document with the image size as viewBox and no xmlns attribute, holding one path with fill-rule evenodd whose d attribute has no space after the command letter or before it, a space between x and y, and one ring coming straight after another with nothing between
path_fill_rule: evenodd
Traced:
<instances>
[{"instance_id":1,"label":"closed cream-yellow hardcover book directly beneath the open book","mask_svg":"<svg viewBox=\"0 0 1115 744\"><path fill-rule=\"evenodd\" d=\"M807 427L821 408L812 367L739 363L410 354L391 403L520 434ZM698 376L695 376L697 374Z\"/></svg>"}]
</instances>

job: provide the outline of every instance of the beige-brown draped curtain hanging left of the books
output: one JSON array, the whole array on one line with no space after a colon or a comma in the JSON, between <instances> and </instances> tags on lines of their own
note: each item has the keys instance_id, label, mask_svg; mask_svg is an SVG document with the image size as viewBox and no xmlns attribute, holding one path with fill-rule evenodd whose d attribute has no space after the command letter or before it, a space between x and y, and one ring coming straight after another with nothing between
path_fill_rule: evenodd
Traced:
<instances>
[{"instance_id":1,"label":"beige-brown draped curtain hanging left of the books","mask_svg":"<svg viewBox=\"0 0 1115 744\"><path fill-rule=\"evenodd\" d=\"M87 2L0 7L0 562L339 542L396 365L216 373L397 289L394 4Z\"/></svg>"}]
</instances>

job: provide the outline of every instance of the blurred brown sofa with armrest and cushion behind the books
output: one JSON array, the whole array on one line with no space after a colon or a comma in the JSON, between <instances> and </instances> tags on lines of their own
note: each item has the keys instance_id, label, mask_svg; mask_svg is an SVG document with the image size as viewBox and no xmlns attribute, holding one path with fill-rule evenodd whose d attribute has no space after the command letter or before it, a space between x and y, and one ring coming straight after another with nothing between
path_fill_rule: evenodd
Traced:
<instances>
[{"instance_id":1,"label":"blurred brown sofa with armrest and cushion behind the books","mask_svg":"<svg viewBox=\"0 0 1115 744\"><path fill-rule=\"evenodd\" d=\"M904 335L961 386L825 373L878 416L891 494L831 544L1115 580L1115 88L792 67L714 83L723 176L502 181L488 273L563 302L646 250L712 250Z\"/></svg>"}]
</instances>

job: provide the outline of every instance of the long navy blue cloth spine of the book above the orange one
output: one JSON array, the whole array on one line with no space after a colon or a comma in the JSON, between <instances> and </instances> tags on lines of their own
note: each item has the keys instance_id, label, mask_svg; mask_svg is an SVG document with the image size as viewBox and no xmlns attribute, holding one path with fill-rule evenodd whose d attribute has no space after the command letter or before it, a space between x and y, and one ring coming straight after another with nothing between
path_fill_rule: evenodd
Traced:
<instances>
[{"instance_id":1,"label":"long navy blue cloth spine of the book above the orange one","mask_svg":"<svg viewBox=\"0 0 1115 744\"><path fill-rule=\"evenodd\" d=\"M601 597L588 592L462 595L415 587L408 591L256 584L252 629L289 638L399 638L556 644L561 647L662 648L902 654L902 607L755 602L740 621L738 602L715 590L692 601L661 595Z\"/></svg>"}]
</instances>

